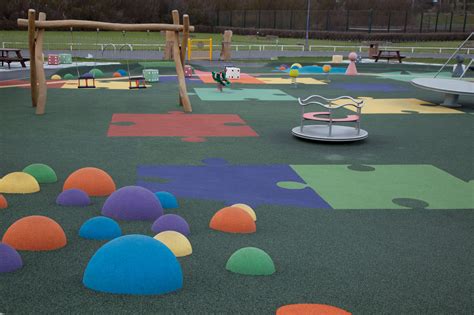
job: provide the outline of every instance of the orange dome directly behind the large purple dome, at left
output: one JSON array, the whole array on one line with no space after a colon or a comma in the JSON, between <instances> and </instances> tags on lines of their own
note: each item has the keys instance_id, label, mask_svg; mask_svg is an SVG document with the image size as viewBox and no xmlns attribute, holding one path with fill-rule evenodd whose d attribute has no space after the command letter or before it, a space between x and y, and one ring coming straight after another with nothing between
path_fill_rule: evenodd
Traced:
<instances>
[{"instance_id":1,"label":"orange dome directly behind the large purple dome, at left","mask_svg":"<svg viewBox=\"0 0 474 315\"><path fill-rule=\"evenodd\" d=\"M64 182L63 191L73 188L83 190L89 196L103 197L115 191L115 183L107 172L95 167L84 167L73 172Z\"/></svg>"}]
</instances>

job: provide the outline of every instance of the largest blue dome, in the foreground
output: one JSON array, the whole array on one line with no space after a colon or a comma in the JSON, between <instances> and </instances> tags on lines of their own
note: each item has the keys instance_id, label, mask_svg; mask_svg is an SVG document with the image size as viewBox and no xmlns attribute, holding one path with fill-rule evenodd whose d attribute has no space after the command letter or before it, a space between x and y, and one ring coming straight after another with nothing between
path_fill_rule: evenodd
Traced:
<instances>
[{"instance_id":1,"label":"largest blue dome, in the foreground","mask_svg":"<svg viewBox=\"0 0 474 315\"><path fill-rule=\"evenodd\" d=\"M183 287L176 256L163 243L145 235L116 238L92 256L83 284L92 290L133 295L158 295Z\"/></svg>"}]
</instances>

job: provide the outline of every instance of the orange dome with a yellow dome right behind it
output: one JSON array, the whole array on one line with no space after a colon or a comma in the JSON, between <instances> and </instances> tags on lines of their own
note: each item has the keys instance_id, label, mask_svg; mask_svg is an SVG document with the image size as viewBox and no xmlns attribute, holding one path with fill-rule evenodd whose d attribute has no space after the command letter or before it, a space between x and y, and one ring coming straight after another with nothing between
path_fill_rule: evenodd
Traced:
<instances>
[{"instance_id":1,"label":"orange dome with a yellow dome right behind it","mask_svg":"<svg viewBox=\"0 0 474 315\"><path fill-rule=\"evenodd\" d=\"M228 233L255 233L257 226L250 214L238 207L217 211L209 223L211 229Z\"/></svg>"}]
</instances>

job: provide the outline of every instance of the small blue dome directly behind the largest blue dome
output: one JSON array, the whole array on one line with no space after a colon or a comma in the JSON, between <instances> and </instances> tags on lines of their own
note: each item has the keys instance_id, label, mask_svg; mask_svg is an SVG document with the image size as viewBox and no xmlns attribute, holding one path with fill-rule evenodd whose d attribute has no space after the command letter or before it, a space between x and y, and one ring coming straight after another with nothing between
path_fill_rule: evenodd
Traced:
<instances>
[{"instance_id":1,"label":"small blue dome directly behind the largest blue dome","mask_svg":"<svg viewBox=\"0 0 474 315\"><path fill-rule=\"evenodd\" d=\"M120 225L107 217L90 218L79 229L79 236L90 240L112 240L122 236Z\"/></svg>"}]
</instances>

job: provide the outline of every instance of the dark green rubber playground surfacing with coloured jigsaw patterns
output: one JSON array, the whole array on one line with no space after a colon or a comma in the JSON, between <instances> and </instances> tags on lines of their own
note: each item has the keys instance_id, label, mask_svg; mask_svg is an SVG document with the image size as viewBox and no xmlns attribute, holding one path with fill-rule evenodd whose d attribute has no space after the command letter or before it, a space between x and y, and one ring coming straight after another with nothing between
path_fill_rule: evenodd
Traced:
<instances>
[{"instance_id":1,"label":"dark green rubber playground surfacing with coloured jigsaw patterns","mask_svg":"<svg viewBox=\"0 0 474 315\"><path fill-rule=\"evenodd\" d=\"M39 193L6 194L9 207L0 212L0 231L23 216L41 214L60 223L68 237L68 245L58 251L21 252L24 267L0 275L0 312L74 313L80 305L81 312L272 314L282 305L320 303L354 314L470 313L473 212L466 192L474 179L473 101L461 96L463 107L439 110L433 105L442 95L406 81L375 76L331 80L297 88L236 83L219 98L206 100L196 89L214 86L191 80L191 115L173 113L180 111L174 81L143 91L50 87L48 111L41 117L33 114L27 90L0 89L1 175L31 163L46 163L58 174L58 182L42 185ZM250 98L226 98L245 95L243 89L261 91ZM300 112L296 99L315 90L326 97L370 98L370 112L362 119L369 137L351 144L293 137ZM391 100L389 109L378 110L377 100ZM143 116L136 115L150 115L151 123L137 125ZM221 120L210 120L211 115ZM183 116L197 117L194 126L200 126L200 118L211 121L218 132L191 128L173 135L154 128L158 118L184 128ZM140 128L127 131L135 132L131 136L109 134L111 128L129 130L133 124ZM151 136L140 134L150 128ZM223 135L229 128L239 132ZM104 198L92 198L86 208L59 207L54 200L66 177L85 166L106 170L117 187L174 190L180 207L173 213L190 223L193 244L193 254L179 259L182 290L117 296L82 285L87 262L104 242L81 239L78 230L98 215ZM218 169L222 176L202 177L202 168L210 170L207 174ZM266 199L254 200L256 194L242 190L252 185L249 181L256 187L270 185L255 174L274 175L267 179L275 187L255 190ZM183 183L183 176L189 181ZM185 194L210 180L219 180L222 189ZM266 194L276 189L296 197ZM255 204L257 233L231 235L208 228L212 215L232 198ZM151 222L120 225L124 234L152 234ZM225 270L230 255L245 246L264 249L276 273L246 277Z\"/></svg>"}]
</instances>

